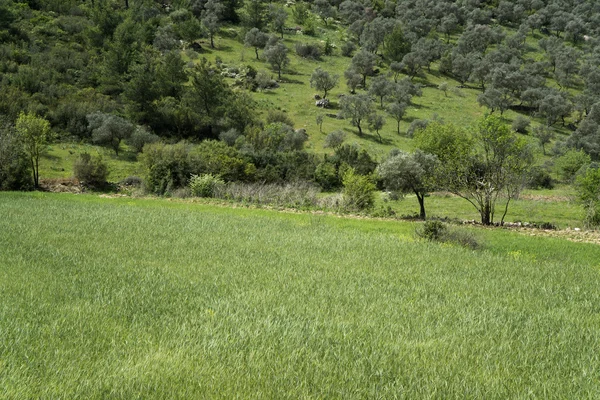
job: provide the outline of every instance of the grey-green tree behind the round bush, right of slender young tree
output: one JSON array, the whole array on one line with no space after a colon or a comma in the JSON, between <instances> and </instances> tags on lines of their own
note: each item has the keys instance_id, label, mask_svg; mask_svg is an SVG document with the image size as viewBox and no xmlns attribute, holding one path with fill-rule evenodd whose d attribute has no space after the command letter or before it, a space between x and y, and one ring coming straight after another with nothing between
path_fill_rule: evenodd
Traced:
<instances>
[{"instance_id":1,"label":"grey-green tree behind the round bush, right of slender young tree","mask_svg":"<svg viewBox=\"0 0 600 400\"><path fill-rule=\"evenodd\" d=\"M133 133L135 126L116 115L95 112L87 116L94 143L107 145L119 156L121 141Z\"/></svg>"}]
</instances>

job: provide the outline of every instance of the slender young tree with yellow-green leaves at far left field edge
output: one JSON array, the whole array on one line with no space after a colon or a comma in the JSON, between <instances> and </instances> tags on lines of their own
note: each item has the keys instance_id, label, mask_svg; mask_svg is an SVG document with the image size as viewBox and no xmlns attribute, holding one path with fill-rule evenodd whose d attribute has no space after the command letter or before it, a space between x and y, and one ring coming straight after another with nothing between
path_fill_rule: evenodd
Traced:
<instances>
[{"instance_id":1,"label":"slender young tree with yellow-green leaves at far left field edge","mask_svg":"<svg viewBox=\"0 0 600 400\"><path fill-rule=\"evenodd\" d=\"M53 139L50 122L34 114L21 111L15 124L16 134L31 164L33 185L40 186L40 157L48 150L48 144Z\"/></svg>"}]
</instances>

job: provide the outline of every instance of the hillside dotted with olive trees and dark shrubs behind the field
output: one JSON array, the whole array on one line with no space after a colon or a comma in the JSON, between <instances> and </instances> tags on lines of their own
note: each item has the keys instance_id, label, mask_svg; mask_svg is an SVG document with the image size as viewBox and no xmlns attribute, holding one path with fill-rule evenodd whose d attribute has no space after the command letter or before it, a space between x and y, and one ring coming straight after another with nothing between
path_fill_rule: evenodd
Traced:
<instances>
[{"instance_id":1,"label":"hillside dotted with olive trees and dark shrubs behind the field","mask_svg":"<svg viewBox=\"0 0 600 400\"><path fill-rule=\"evenodd\" d=\"M491 113L529 144L530 186L570 184L600 154L598 7L3 0L0 152L12 155L0 183L70 177L77 153L97 145L110 149L113 180L141 175L158 194L194 173L336 190L348 168L373 174L390 151L419 147L412 137L431 121L469 131ZM21 113L51 127L38 161L13 151Z\"/></svg>"}]
</instances>

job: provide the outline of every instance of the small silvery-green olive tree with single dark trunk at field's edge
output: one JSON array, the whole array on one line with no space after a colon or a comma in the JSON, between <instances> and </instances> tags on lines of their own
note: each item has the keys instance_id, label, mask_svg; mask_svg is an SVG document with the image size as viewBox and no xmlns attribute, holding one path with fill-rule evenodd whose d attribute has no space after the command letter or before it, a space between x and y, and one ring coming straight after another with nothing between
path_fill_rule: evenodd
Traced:
<instances>
[{"instance_id":1,"label":"small silvery-green olive tree with single dark trunk at field's edge","mask_svg":"<svg viewBox=\"0 0 600 400\"><path fill-rule=\"evenodd\" d=\"M419 201L419 216L426 219L425 196L435 189L436 156L416 150L413 154L392 150L377 167L377 174L387 190L414 193Z\"/></svg>"}]
</instances>

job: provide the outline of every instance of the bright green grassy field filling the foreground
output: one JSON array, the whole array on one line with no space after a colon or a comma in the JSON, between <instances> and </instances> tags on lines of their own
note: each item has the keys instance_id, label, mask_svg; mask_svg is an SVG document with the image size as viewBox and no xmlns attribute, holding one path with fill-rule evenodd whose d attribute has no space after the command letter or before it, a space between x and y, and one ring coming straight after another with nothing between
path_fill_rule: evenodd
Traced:
<instances>
[{"instance_id":1,"label":"bright green grassy field filling the foreground","mask_svg":"<svg viewBox=\"0 0 600 400\"><path fill-rule=\"evenodd\" d=\"M0 193L0 398L598 398L600 247Z\"/></svg>"}]
</instances>

